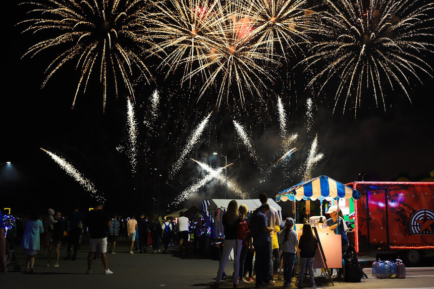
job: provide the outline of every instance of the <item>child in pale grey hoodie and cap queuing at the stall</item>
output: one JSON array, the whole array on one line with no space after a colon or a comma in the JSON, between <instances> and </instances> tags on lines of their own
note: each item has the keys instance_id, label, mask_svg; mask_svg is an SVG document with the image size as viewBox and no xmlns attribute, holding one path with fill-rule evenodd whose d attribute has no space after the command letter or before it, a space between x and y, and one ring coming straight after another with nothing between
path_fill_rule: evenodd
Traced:
<instances>
[{"instance_id":1,"label":"child in pale grey hoodie and cap queuing at the stall","mask_svg":"<svg viewBox=\"0 0 434 289\"><path fill-rule=\"evenodd\" d=\"M292 269L294 268L295 246L298 245L297 232L293 230L294 219L287 218L285 228L279 234L279 244L283 256L283 286L291 287Z\"/></svg>"}]
</instances>

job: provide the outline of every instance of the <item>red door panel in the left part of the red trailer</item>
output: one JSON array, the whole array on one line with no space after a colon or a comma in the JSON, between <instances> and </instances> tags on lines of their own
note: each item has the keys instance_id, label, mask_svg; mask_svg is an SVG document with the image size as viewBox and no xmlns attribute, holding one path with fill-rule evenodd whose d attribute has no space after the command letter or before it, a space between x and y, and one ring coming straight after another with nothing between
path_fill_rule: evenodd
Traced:
<instances>
[{"instance_id":1,"label":"red door panel in the left part of the red trailer","mask_svg":"<svg viewBox=\"0 0 434 289\"><path fill-rule=\"evenodd\" d=\"M367 191L369 242L376 248L387 248L387 204L385 190Z\"/></svg>"}]
</instances>

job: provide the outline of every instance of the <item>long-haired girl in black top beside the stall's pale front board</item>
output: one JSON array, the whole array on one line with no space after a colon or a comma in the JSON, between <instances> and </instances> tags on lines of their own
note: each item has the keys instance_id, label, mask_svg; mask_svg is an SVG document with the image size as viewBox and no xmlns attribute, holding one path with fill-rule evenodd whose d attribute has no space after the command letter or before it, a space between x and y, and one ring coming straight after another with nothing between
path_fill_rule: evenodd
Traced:
<instances>
[{"instance_id":1,"label":"long-haired girl in black top beside the stall's pale front board","mask_svg":"<svg viewBox=\"0 0 434 289\"><path fill-rule=\"evenodd\" d=\"M303 234L300 237L298 243L298 249L300 249L300 273L298 274L298 287L303 287L303 278L305 268L309 270L310 275L310 287L316 287L315 281L313 280L313 256L315 256L315 251L317 247L317 242L312 233L312 228L310 225L303 225Z\"/></svg>"}]
</instances>

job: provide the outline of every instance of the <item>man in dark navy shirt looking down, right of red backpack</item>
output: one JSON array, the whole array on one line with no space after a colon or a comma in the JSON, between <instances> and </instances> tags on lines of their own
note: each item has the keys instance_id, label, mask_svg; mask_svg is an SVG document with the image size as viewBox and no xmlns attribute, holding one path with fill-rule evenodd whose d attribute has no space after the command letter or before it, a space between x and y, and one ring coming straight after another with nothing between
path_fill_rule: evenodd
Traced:
<instances>
[{"instance_id":1,"label":"man in dark navy shirt looking down, right of red backpack","mask_svg":"<svg viewBox=\"0 0 434 289\"><path fill-rule=\"evenodd\" d=\"M270 232L274 227L268 227L266 214L270 210L268 204L263 204L255 210L250 218L250 234L253 237L253 246L255 247L256 259L256 287L268 286L268 274L270 266Z\"/></svg>"}]
</instances>

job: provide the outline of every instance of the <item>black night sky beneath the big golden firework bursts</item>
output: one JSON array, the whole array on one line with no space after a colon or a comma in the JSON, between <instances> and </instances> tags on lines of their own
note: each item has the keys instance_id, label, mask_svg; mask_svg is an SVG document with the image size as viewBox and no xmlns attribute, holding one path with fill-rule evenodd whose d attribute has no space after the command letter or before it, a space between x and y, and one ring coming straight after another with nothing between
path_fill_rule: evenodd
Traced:
<instances>
[{"instance_id":1,"label":"black night sky beneath the big golden firework bursts","mask_svg":"<svg viewBox=\"0 0 434 289\"><path fill-rule=\"evenodd\" d=\"M20 34L21 28L16 26L23 19L24 11L15 1L9 1L4 4L4 14L9 18L2 19L4 76L0 98L0 163L11 161L12 164L0 167L1 209L11 207L13 213L26 214L48 207L70 210L71 203L76 202L83 210L93 205L88 192L39 148L64 157L90 179L105 193L108 210L140 210L149 214L151 199L157 198L158 189L160 210L176 209L167 205L180 191L204 176L188 158L213 167L223 166L224 158L212 156L214 151L227 154L228 162L234 163L228 168L228 177L250 192L251 198L257 198L261 191L272 197L302 180L295 172L303 163L315 134L318 134L318 152L323 153L324 158L315 166L312 176L325 174L347 183L369 172L370 180L388 181L405 175L417 181L434 170L432 78L420 74L424 85L413 81L409 93L412 104L400 91L388 91L387 113L381 106L376 108L372 95L367 93L356 119L352 111L343 116L339 108L333 115L333 92L330 98L329 92L325 97L321 94L314 99L313 124L306 132L305 102L309 95L302 89L305 79L297 71L281 67L277 69L283 80L273 85L273 91L264 92L266 111L258 109L255 101L251 101L254 109L246 111L225 106L217 110L215 96L198 100L196 86L179 87L177 75L164 81L155 72L156 84L136 87L141 151L137 174L133 177L128 158L116 150L128 141L125 96L120 95L116 100L115 95L109 93L103 114L101 90L94 85L86 94L78 95L77 106L72 110L78 79L73 65L66 65L41 89L44 70L53 55L46 53L34 59L21 59L34 43L34 38ZM426 56L425 60L431 67L434 65L432 56ZM285 79L288 75L294 83L290 88ZM143 124L154 89L158 89L162 100L157 134L149 133ZM259 184L263 175L236 136L232 119L249 128L261 166L272 165L282 155L276 150L280 141L276 94L282 96L286 106L289 131L299 133L295 145L299 150L285 170L273 168L267 180ZM168 180L168 171L189 132L211 111L201 141L189 154L179 174ZM148 148L148 153L143 148ZM224 186L213 181L182 206L198 205L201 199L223 197ZM234 198L233 192L229 191L228 197Z\"/></svg>"}]
</instances>

